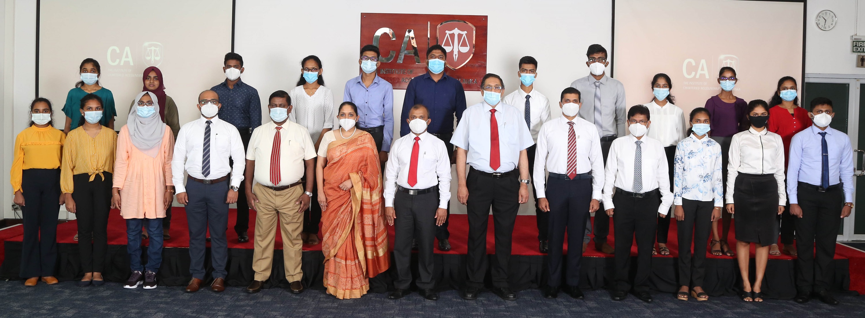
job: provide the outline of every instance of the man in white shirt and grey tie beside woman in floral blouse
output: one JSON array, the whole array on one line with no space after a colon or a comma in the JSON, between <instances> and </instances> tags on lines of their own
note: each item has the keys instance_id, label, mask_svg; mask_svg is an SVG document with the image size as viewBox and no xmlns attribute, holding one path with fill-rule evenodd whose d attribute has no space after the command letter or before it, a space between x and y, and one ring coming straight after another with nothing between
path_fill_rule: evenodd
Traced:
<instances>
[{"instance_id":1,"label":"man in white shirt and grey tie beside woman in floral blouse","mask_svg":"<svg viewBox=\"0 0 865 318\"><path fill-rule=\"evenodd\" d=\"M607 158L603 200L606 214L613 217L615 226L616 278L612 299L616 301L624 300L631 287L641 301L652 301L649 274L657 217L666 217L673 203L663 146L645 136L651 124L649 117L649 108L631 107L628 110L631 134L614 140ZM628 260L635 235L637 273L631 283Z\"/></svg>"}]
</instances>

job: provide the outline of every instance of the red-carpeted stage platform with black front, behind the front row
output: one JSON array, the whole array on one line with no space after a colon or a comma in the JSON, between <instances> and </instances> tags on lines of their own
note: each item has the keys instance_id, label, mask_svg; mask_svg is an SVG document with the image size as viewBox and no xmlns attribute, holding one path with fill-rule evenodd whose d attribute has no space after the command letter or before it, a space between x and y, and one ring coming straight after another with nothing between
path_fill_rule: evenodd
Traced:
<instances>
[{"instance_id":1,"label":"red-carpeted stage platform with black front, behind the front row","mask_svg":"<svg viewBox=\"0 0 865 318\"><path fill-rule=\"evenodd\" d=\"M234 210L229 212L228 217L228 263L227 283L232 286L247 286L253 279L252 258L253 242L238 243L237 234L234 233ZM183 207L172 209L172 220L170 235L171 239L164 242L163 263L157 274L160 285L183 286L189 282L189 231L187 230L186 214ZM490 216L491 217L491 216ZM255 224L255 214L250 211L250 223ZM493 238L493 222L490 220L487 232L487 253L495 251ZM611 226L612 227L612 226ZM113 282L124 282L130 274L129 259L126 254L126 225L119 211L112 211L108 222L108 256L106 257L106 269L103 273L106 279ZM249 237L253 237L253 230L249 230ZM390 231L389 243L393 246L393 227ZM451 216L449 239L452 250L435 250L435 278L437 289L459 289L465 282L465 254L466 239L468 235L468 221L465 215L454 214ZM58 261L55 276L61 281L74 280L83 274L80 269L77 241L73 240L77 226L75 221L60 224L57 227ZM734 243L733 229L731 229L730 242ZM612 229L610 243L612 244ZM0 230L0 276L18 279L20 267L22 226L13 226ZM273 257L273 269L271 278L266 282L266 288L287 287L285 274L282 267L282 242L280 236L276 236L276 252ZM144 240L144 245L148 243ZM602 289L611 282L613 276L612 255L601 253L594 249L594 244L589 243L589 248L583 255L580 288ZM209 246L209 243L208 243ZM678 289L676 282L678 256L678 244L676 240L676 221L670 224L670 236L667 246L670 248L669 256L654 256L652 258L652 288L664 293L673 293ZM145 248L146 249L146 248ZM566 243L567 249L567 243ZM753 248L751 251L753 257ZM631 256L637 255L636 244L631 249ZM208 275L212 270L209 268ZM781 256L769 256L768 268L766 269L766 281L764 282L764 293L772 298L791 299L796 292L794 268L795 257L782 254ZM304 285L311 289L324 289L322 276L324 272L324 255L321 245L304 245L303 253ZM490 262L495 262L490 257ZM510 286L516 290L537 289L544 286L548 279L547 257L538 251L537 225L534 216L517 216L516 226L513 234L512 258L509 268ZM855 290L865 293L865 252L851 249L838 244L835 256L835 280L833 289ZM753 267L753 261L752 261ZM714 256L708 253L706 263L706 278L703 288L709 295L735 295L739 286L739 269L735 257ZM385 273L370 279L370 290L373 292L385 292L393 289L393 278L395 271L388 269ZM209 276L208 276L209 279ZM487 277L489 284L489 274Z\"/></svg>"}]
</instances>

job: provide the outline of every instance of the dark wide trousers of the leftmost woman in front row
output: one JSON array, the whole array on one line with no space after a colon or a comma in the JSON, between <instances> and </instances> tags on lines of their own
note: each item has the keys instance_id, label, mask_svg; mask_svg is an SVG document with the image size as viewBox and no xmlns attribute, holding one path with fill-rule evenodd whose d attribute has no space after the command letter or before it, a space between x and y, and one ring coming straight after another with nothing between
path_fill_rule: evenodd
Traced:
<instances>
[{"instance_id":1,"label":"dark wide trousers of the leftmost woman in front row","mask_svg":"<svg viewBox=\"0 0 865 318\"><path fill-rule=\"evenodd\" d=\"M60 169L25 169L24 238L21 247L22 278L54 276L57 263L57 214L60 213Z\"/></svg>"}]
</instances>

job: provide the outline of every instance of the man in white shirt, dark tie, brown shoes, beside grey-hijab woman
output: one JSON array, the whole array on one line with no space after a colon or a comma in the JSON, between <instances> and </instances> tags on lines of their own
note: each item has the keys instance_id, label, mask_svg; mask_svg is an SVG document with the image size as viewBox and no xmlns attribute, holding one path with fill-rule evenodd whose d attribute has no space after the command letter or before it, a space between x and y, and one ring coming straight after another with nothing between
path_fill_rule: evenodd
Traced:
<instances>
[{"instance_id":1,"label":"man in white shirt, dark tie, brown shoes, beside grey-hijab woman","mask_svg":"<svg viewBox=\"0 0 865 318\"><path fill-rule=\"evenodd\" d=\"M243 142L237 128L217 116L222 104L216 92L206 90L198 94L197 106L202 117L180 128L171 160L177 203L186 205L189 223L189 272L192 280L186 291L195 292L202 286L205 275L204 237L209 227L210 262L214 268L214 282L210 289L221 292L225 290L227 274L228 204L237 202L237 191L243 181ZM229 157L234 160L234 165L228 164ZM184 171L189 174L186 185L183 185ZM231 178L230 183L228 178Z\"/></svg>"}]
</instances>

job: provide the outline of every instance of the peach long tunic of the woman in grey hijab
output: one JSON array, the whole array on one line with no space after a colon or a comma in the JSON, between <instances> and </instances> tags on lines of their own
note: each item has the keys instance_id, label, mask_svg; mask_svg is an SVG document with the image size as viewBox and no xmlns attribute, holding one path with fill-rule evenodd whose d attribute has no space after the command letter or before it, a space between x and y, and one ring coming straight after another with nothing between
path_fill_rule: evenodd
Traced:
<instances>
[{"instance_id":1,"label":"peach long tunic of the woman in grey hijab","mask_svg":"<svg viewBox=\"0 0 865 318\"><path fill-rule=\"evenodd\" d=\"M171 183L171 157L174 134L165 127L156 158L132 145L129 128L120 128L117 159L114 162L114 187L120 189L120 215L123 218L165 217L163 198Z\"/></svg>"}]
</instances>

